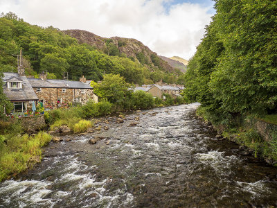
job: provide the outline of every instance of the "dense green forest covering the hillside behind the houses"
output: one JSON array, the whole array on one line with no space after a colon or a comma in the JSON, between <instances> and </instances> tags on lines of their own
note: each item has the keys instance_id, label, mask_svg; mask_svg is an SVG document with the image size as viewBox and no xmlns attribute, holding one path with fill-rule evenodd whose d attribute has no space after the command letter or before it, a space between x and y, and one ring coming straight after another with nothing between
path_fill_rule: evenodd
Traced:
<instances>
[{"instance_id":1,"label":"dense green forest covering the hillside behind the houses","mask_svg":"<svg viewBox=\"0 0 277 208\"><path fill-rule=\"evenodd\" d=\"M107 43L109 44L109 43ZM154 60L152 67L123 57L119 53L106 54L89 44L78 44L57 28L30 25L9 12L0 18L0 69L12 71L17 66L17 55L23 49L26 74L37 77L42 71L51 78L78 80L82 75L88 80L102 80L105 73L120 74L127 83L152 84L159 80L166 83L184 83L183 73L171 73L159 67Z\"/></svg>"}]
</instances>

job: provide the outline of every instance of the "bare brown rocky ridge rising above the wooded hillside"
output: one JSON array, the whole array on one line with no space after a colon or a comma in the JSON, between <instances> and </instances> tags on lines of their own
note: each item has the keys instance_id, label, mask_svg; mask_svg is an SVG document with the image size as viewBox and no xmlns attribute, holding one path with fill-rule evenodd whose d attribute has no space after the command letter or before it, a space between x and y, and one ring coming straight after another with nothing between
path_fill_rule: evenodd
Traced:
<instances>
[{"instance_id":1,"label":"bare brown rocky ridge rising above the wooded hillside","mask_svg":"<svg viewBox=\"0 0 277 208\"><path fill-rule=\"evenodd\" d=\"M137 60L150 69L159 68L162 71L175 71L168 62L159 58L157 53L151 51L148 46L145 46L139 40L123 37L100 37L82 30L67 30L63 32L76 38L79 44L87 43L108 55L118 55Z\"/></svg>"}]
</instances>

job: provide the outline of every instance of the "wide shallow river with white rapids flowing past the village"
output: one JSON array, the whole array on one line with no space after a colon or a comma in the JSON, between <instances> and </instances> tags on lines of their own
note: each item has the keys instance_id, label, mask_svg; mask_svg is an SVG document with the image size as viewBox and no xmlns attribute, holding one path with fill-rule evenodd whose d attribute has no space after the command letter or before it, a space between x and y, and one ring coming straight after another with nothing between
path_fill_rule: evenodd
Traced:
<instances>
[{"instance_id":1,"label":"wide shallow river with white rapids flowing past the village","mask_svg":"<svg viewBox=\"0 0 277 208\"><path fill-rule=\"evenodd\" d=\"M0 207L277 206L277 168L216 139L197 106L106 118L108 130L51 142L33 170L0 184Z\"/></svg>"}]
</instances>

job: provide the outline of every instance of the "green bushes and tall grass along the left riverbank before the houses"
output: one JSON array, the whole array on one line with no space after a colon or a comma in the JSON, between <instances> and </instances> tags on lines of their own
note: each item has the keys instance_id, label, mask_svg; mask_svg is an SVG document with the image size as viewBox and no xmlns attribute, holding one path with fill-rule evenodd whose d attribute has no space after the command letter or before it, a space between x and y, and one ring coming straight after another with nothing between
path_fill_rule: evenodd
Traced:
<instances>
[{"instance_id":1,"label":"green bushes and tall grass along the left riverbank before the houses","mask_svg":"<svg viewBox=\"0 0 277 208\"><path fill-rule=\"evenodd\" d=\"M119 75L106 74L102 83L93 84L100 96L99 103L89 101L85 105L76 105L68 109L56 109L44 112L46 124L51 130L62 125L68 126L74 133L85 132L93 126L91 118L107 116L116 112L129 110L146 110L164 105L183 104L184 97L173 99L165 95L166 100L153 98L143 91L132 92L125 78ZM4 99L4 95L2 94ZM40 112L44 109L37 107ZM20 121L0 123L0 182L15 176L42 159L42 146L51 141L52 136L41 131L28 135L21 128Z\"/></svg>"}]
</instances>

